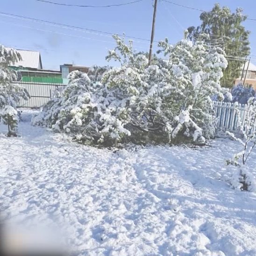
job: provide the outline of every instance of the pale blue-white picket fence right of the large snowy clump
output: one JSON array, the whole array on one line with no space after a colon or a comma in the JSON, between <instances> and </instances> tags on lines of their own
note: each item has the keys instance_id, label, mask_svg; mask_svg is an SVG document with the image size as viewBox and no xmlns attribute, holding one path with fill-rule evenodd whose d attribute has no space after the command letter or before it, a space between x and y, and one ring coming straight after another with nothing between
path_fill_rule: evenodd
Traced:
<instances>
[{"instance_id":1,"label":"pale blue-white picket fence right of the large snowy clump","mask_svg":"<svg viewBox=\"0 0 256 256\"><path fill-rule=\"evenodd\" d=\"M246 104L238 104L238 109L242 127L244 126L245 117L248 112L248 107ZM235 111L234 103L229 102L214 102L214 110L217 117L217 127L224 128L228 131L237 131L238 127L238 116Z\"/></svg>"}]
</instances>

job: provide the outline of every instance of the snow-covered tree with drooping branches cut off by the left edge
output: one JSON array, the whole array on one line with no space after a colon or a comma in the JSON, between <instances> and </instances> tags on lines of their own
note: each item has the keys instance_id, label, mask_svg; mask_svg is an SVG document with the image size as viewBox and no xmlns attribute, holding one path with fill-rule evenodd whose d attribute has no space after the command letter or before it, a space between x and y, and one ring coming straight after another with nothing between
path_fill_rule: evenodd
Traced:
<instances>
[{"instance_id":1,"label":"snow-covered tree with drooping branches cut off by the left edge","mask_svg":"<svg viewBox=\"0 0 256 256\"><path fill-rule=\"evenodd\" d=\"M8 136L16 135L16 104L21 98L27 100L29 97L25 88L14 83L17 81L17 73L9 68L18 60L21 60L21 56L16 50L7 50L0 45L0 119L8 126Z\"/></svg>"}]
</instances>

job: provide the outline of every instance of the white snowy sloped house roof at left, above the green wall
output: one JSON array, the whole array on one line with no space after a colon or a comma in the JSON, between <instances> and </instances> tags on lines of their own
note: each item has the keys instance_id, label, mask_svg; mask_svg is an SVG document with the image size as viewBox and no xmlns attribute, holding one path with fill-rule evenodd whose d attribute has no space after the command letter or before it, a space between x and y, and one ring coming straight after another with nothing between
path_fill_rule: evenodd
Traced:
<instances>
[{"instance_id":1,"label":"white snowy sloped house roof at left, above the green wall","mask_svg":"<svg viewBox=\"0 0 256 256\"><path fill-rule=\"evenodd\" d=\"M22 66L27 68L42 69L41 56L39 51L32 50L17 50L20 53L22 60L14 64L14 66Z\"/></svg>"}]
</instances>

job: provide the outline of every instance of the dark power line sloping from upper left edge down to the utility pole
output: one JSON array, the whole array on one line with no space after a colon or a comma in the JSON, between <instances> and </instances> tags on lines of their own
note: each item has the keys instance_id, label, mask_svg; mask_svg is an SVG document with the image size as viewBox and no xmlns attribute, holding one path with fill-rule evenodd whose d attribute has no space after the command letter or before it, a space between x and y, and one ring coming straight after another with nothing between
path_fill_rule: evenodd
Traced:
<instances>
[{"instance_id":1,"label":"dark power line sloping from upper left edge down to the utility pole","mask_svg":"<svg viewBox=\"0 0 256 256\"><path fill-rule=\"evenodd\" d=\"M22 19L31 20L31 21L37 21L37 22L44 22L44 23L55 25L55 26L64 26L64 27L67 27L67 28L77 28L77 29L81 29L81 30L85 30L85 31L91 31L91 32L96 32L96 33L101 33L101 34L111 35L111 36L113 34L117 34L117 33L111 33L111 32L91 29L91 28L83 28L83 27L78 27L78 26L72 26L72 25L68 25L68 24L64 24L64 23L58 23L58 22L53 22L53 21L45 21L45 20L30 18L30 17L26 17L26 16L22 16L22 15L9 14L9 13L4 13L4 12L0 12L0 15L16 17L16 18L22 18ZM135 37L135 36L127 36L127 35L123 35L123 36L131 38L131 39L137 39L137 40L142 40L142 41L150 42L150 39L145 39L145 38ZM157 43L157 41L154 41L154 42Z\"/></svg>"}]
</instances>

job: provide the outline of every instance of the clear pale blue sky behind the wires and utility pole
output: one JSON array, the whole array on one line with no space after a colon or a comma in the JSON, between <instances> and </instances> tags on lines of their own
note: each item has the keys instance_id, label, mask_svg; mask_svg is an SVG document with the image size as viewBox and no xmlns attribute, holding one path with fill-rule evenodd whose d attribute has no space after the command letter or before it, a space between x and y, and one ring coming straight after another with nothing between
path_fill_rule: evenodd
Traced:
<instances>
[{"instance_id":1,"label":"clear pale blue sky behind the wires and utility pole","mask_svg":"<svg viewBox=\"0 0 256 256\"><path fill-rule=\"evenodd\" d=\"M106 5L126 3L131 0L53 1L78 5ZM158 1L155 40L168 37L171 43L176 43L183 38L185 28L200 24L199 11ZM172 1L205 10L210 10L216 2L215 0ZM255 0L220 0L218 2L221 6L230 7L232 11L235 11L236 7L242 7L244 14L256 19ZM142 0L139 3L121 7L82 8L55 6L36 0L1 0L1 12L149 39L152 5L153 0ZM17 49L40 50L45 69L59 69L59 65L64 63L85 66L105 65L107 50L114 48L114 40L108 35L56 27L5 15L0 15L0 25L1 44ZM256 21L246 21L244 26L251 31L251 54L256 56ZM138 51L149 49L149 42L134 41ZM155 44L154 51L156 50ZM256 57L252 62L256 64Z\"/></svg>"}]
</instances>

